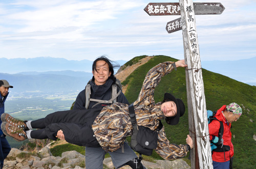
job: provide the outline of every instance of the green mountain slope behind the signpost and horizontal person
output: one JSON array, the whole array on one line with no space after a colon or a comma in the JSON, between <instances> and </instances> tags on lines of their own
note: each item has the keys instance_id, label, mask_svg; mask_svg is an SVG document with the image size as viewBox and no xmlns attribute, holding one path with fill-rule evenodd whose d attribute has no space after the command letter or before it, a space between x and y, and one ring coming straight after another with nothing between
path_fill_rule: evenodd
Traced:
<instances>
[{"instance_id":1,"label":"green mountain slope behind the signpost and horizontal person","mask_svg":"<svg viewBox=\"0 0 256 169\"><path fill-rule=\"evenodd\" d=\"M125 65L136 62L136 57ZM165 61L177 61L176 59L163 55L155 56L146 64L138 67L130 76L128 76L123 85L128 85L125 92L126 98L130 103L134 102L140 92L144 77L148 70L155 65ZM220 68L221 69L221 68ZM256 141L253 140L253 134L256 134L256 87L233 80L221 74L213 73L202 69L204 80L204 91L207 109L217 110L222 105L236 102L243 108L242 117L232 124L232 143L234 145L234 168L256 168L254 158L256 156ZM172 93L181 98L186 107L186 80L185 69L178 68L162 78L160 84L155 90L155 101L163 99L165 92ZM250 122L250 119L253 122ZM169 126L164 123L167 136L171 143L185 144L186 134L188 134L188 112L180 119L176 126ZM158 155L154 154L156 158Z\"/></svg>"}]
</instances>

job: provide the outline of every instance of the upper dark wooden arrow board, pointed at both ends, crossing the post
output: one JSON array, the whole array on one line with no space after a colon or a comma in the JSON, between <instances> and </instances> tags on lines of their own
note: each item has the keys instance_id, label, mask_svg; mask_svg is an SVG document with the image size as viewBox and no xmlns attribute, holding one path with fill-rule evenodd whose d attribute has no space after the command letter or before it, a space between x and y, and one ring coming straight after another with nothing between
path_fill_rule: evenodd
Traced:
<instances>
[{"instance_id":1,"label":"upper dark wooden arrow board, pointed at both ends, crossing the post","mask_svg":"<svg viewBox=\"0 0 256 169\"><path fill-rule=\"evenodd\" d=\"M224 6L221 3L193 3L195 15L221 14ZM150 16L180 15L179 3L149 3L144 11Z\"/></svg>"}]
</instances>

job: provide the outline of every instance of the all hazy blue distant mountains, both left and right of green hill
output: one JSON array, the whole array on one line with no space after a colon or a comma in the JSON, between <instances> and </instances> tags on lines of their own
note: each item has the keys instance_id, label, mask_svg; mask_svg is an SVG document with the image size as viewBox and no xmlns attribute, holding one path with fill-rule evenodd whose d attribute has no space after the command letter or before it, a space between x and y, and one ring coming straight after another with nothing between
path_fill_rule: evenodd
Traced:
<instances>
[{"instance_id":1,"label":"all hazy blue distant mountains, both left and right of green hill","mask_svg":"<svg viewBox=\"0 0 256 169\"><path fill-rule=\"evenodd\" d=\"M126 61L115 61L120 66ZM92 78L93 61L63 58L0 58L0 79L7 79L15 89L40 91L81 90ZM202 61L202 68L256 86L256 57L239 61ZM118 69L115 69L115 73Z\"/></svg>"}]
</instances>

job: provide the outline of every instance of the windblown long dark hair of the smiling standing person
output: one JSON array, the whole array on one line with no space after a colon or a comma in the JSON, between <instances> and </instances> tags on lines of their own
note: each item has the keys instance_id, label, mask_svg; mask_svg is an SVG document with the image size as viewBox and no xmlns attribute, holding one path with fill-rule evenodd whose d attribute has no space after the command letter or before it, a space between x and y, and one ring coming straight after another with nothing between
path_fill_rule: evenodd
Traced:
<instances>
[{"instance_id":1,"label":"windblown long dark hair of the smiling standing person","mask_svg":"<svg viewBox=\"0 0 256 169\"><path fill-rule=\"evenodd\" d=\"M114 76L114 68L119 68L120 65L115 62L115 61L111 61L110 59L106 58L105 55L102 55L100 57L98 57L94 62L93 62L93 66L92 66L92 69L93 71L96 71L96 62L98 61L105 61L108 65L109 65L109 70L111 72L111 75L109 78L111 78L112 80L114 80L114 82L116 82L116 77ZM94 80L94 76L93 76L93 80Z\"/></svg>"}]
</instances>

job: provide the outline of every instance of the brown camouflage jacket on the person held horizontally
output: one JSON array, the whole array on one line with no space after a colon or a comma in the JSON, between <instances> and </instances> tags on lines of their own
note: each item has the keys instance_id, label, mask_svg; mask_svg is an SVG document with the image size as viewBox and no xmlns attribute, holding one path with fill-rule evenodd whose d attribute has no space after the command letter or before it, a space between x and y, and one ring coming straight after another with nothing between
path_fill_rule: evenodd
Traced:
<instances>
[{"instance_id":1,"label":"brown camouflage jacket on the person held horizontally","mask_svg":"<svg viewBox=\"0 0 256 169\"><path fill-rule=\"evenodd\" d=\"M164 119L161 102L155 104L154 91L161 77L170 73L174 65L174 62L164 62L153 67L146 74L138 99L134 102L138 125L156 130L159 120ZM104 151L113 152L119 149L125 138L132 135L133 127L128 105L115 103L105 106L95 119L92 129ZM155 150L164 159L178 159L186 156L189 146L170 144L163 127L158 131L158 143Z\"/></svg>"}]
</instances>

